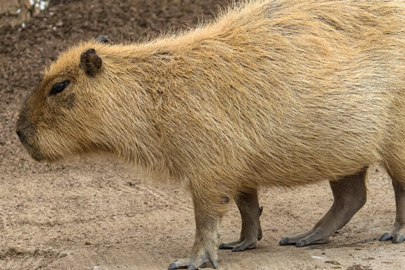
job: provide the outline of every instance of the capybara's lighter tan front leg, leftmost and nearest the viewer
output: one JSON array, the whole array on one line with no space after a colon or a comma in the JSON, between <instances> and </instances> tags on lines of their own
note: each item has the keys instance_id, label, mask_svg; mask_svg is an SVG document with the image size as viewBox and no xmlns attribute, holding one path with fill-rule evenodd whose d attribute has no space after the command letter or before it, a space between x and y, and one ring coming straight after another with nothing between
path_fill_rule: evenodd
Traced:
<instances>
[{"instance_id":1,"label":"capybara's lighter tan front leg, leftmost and nearest the viewer","mask_svg":"<svg viewBox=\"0 0 405 270\"><path fill-rule=\"evenodd\" d=\"M179 259L169 265L169 269L195 270L205 263L218 266L217 240L219 222L228 208L229 198L217 193L217 188L207 185L191 186L195 213L195 241L191 256Z\"/></svg>"}]
</instances>

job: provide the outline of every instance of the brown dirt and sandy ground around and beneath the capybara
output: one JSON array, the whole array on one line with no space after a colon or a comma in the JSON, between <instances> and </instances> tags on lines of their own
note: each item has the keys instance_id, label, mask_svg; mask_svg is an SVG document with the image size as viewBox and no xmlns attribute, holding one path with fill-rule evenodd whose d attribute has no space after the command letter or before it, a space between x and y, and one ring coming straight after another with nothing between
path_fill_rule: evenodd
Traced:
<instances>
[{"instance_id":1,"label":"brown dirt and sandy ground around and beneath the capybara","mask_svg":"<svg viewBox=\"0 0 405 270\"><path fill-rule=\"evenodd\" d=\"M18 108L44 65L82 39L150 37L210 18L226 1L51 1L25 28L0 29L0 269L167 269L193 244L191 198L139 179L107 158L37 163L15 135ZM368 203L326 245L281 247L332 204L328 183L263 189L264 237L256 250L219 250L220 269L404 269L405 244L380 243L395 217L387 174L370 169ZM238 238L233 204L220 241Z\"/></svg>"}]
</instances>

